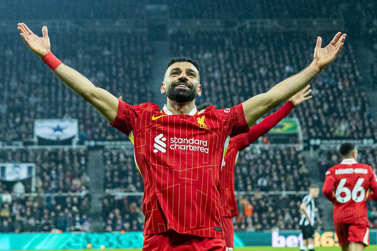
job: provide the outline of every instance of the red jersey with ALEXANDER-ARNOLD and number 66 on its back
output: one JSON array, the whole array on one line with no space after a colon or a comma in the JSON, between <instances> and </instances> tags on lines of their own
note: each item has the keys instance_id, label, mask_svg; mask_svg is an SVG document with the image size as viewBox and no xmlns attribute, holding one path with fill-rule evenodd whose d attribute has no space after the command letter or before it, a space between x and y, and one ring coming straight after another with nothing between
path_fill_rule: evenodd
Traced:
<instances>
[{"instance_id":1,"label":"red jersey with ALEXANDER-ARNOLD and number 66 on its back","mask_svg":"<svg viewBox=\"0 0 377 251\"><path fill-rule=\"evenodd\" d=\"M367 224L368 190L377 192L374 171L367 164L346 158L326 172L322 192L334 203L334 224Z\"/></svg>"}]
</instances>

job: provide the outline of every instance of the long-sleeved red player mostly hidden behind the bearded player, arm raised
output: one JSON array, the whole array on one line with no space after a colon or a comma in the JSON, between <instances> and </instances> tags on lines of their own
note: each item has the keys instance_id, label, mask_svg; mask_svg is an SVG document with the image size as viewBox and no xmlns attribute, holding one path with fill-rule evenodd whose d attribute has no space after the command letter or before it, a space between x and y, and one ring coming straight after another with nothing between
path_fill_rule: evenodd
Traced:
<instances>
[{"instance_id":1,"label":"long-sleeved red player mostly hidden behind the bearded player, arm raised","mask_svg":"<svg viewBox=\"0 0 377 251\"><path fill-rule=\"evenodd\" d=\"M227 251L234 248L234 228L232 218L238 216L236 197L234 196L234 166L237 162L238 153L250 146L259 137L266 134L280 120L284 119L296 106L305 100L311 99L310 85L294 94L282 107L270 116L265 117L261 122L250 127L248 133L239 134L230 138L228 149L224 155L222 169L220 172L220 202L222 208L222 227L224 230ZM198 106L199 113L203 113L210 106L204 103Z\"/></svg>"}]
</instances>

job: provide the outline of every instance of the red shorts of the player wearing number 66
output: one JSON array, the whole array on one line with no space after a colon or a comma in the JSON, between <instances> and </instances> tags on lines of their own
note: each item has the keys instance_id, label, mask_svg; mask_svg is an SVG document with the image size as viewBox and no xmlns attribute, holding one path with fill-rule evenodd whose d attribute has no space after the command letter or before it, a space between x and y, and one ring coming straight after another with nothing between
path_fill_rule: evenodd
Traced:
<instances>
[{"instance_id":1,"label":"red shorts of the player wearing number 66","mask_svg":"<svg viewBox=\"0 0 377 251\"><path fill-rule=\"evenodd\" d=\"M363 242L369 245L369 227L361 224L334 224L339 245L349 245L349 242Z\"/></svg>"}]
</instances>

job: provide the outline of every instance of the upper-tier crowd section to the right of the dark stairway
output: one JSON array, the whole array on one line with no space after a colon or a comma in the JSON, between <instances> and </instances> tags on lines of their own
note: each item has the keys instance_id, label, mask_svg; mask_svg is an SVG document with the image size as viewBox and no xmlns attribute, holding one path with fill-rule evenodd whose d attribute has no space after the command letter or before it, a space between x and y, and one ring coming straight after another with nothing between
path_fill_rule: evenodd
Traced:
<instances>
[{"instance_id":1,"label":"upper-tier crowd section to the right of the dark stairway","mask_svg":"<svg viewBox=\"0 0 377 251\"><path fill-rule=\"evenodd\" d=\"M321 34L324 41L332 33ZM181 37L179 42L175 37ZM183 42L182 42L183 41ZM176 33L171 37L174 55L188 55L201 63L203 94L219 108L241 103L268 91L297 73L312 60L316 37L302 32L265 33L248 30ZM314 98L294 109L303 135L309 138L375 137L377 130L351 43L312 83Z\"/></svg>"}]
</instances>

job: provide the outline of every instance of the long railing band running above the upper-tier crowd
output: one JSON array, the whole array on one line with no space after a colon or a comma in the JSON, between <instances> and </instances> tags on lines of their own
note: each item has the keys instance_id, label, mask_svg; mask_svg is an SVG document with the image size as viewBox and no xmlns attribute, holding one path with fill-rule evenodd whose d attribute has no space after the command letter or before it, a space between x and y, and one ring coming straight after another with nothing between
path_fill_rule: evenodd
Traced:
<instances>
[{"instance_id":1,"label":"long railing band running above the upper-tier crowd","mask_svg":"<svg viewBox=\"0 0 377 251\"><path fill-rule=\"evenodd\" d=\"M164 20L159 20L159 23ZM146 31L147 21L141 19L118 19L118 20L25 20L30 27L41 27L47 25L54 32L67 32L71 29L77 29L85 32L132 32L135 30ZM285 19L166 19L167 30L169 33L177 30L202 30L202 31L222 31L227 29L257 29L257 30L339 30L344 27L343 19L335 18L285 18ZM181 25L185 24L185 25ZM15 32L17 26L16 20L0 21L2 32Z\"/></svg>"}]
</instances>

